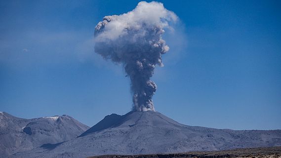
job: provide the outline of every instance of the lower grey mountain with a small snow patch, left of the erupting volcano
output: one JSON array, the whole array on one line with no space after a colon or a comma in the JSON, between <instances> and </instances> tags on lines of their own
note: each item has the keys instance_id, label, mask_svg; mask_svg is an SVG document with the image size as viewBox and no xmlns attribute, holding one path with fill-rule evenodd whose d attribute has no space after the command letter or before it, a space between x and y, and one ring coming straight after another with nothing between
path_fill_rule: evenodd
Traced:
<instances>
[{"instance_id":1,"label":"lower grey mountain with a small snow patch, left of the erupting volcano","mask_svg":"<svg viewBox=\"0 0 281 158\"><path fill-rule=\"evenodd\" d=\"M0 112L0 158L71 140L88 128L67 115L25 119Z\"/></svg>"}]
</instances>

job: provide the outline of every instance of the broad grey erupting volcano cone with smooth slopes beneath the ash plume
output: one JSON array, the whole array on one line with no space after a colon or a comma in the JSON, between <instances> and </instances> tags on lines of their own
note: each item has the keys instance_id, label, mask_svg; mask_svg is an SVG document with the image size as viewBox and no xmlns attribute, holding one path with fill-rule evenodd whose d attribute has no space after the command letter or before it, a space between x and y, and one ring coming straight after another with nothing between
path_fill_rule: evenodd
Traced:
<instances>
[{"instance_id":1,"label":"broad grey erupting volcano cone with smooth slopes beneath the ash plume","mask_svg":"<svg viewBox=\"0 0 281 158\"><path fill-rule=\"evenodd\" d=\"M80 137L17 153L16 158L83 158L281 146L281 130L230 130L180 124L153 112L112 114Z\"/></svg>"}]
</instances>

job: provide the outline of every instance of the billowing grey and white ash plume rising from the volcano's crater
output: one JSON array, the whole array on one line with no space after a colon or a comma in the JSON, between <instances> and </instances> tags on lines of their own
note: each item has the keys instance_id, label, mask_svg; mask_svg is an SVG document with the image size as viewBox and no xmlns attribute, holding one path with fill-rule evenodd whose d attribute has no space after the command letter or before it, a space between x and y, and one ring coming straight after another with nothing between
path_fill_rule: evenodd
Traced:
<instances>
[{"instance_id":1,"label":"billowing grey and white ash plume rising from the volcano's crater","mask_svg":"<svg viewBox=\"0 0 281 158\"><path fill-rule=\"evenodd\" d=\"M159 2L138 3L132 11L105 16L95 27L95 52L105 59L122 63L131 80L133 110L155 110L152 96L157 85L150 78L169 47L162 40L164 29L177 16Z\"/></svg>"}]
</instances>

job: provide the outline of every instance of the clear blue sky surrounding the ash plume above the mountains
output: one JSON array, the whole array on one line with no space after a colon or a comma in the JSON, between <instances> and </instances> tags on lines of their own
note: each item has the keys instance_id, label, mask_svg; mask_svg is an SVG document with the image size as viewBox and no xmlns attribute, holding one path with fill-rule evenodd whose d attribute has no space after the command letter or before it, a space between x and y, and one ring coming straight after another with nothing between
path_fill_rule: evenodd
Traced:
<instances>
[{"instance_id":1,"label":"clear blue sky surrounding the ash plume above the mountains","mask_svg":"<svg viewBox=\"0 0 281 158\"><path fill-rule=\"evenodd\" d=\"M187 125L281 129L281 1L161 2L182 27L153 77L156 110ZM129 112L129 79L94 53L93 33L137 3L1 0L0 111L89 126Z\"/></svg>"}]
</instances>

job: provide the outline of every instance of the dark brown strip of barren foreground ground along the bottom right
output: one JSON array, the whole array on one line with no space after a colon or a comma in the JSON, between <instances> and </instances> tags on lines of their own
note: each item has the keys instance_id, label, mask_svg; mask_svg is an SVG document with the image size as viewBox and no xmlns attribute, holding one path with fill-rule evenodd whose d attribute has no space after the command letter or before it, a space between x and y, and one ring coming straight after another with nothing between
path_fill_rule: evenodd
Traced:
<instances>
[{"instance_id":1,"label":"dark brown strip of barren foreground ground along the bottom right","mask_svg":"<svg viewBox=\"0 0 281 158\"><path fill-rule=\"evenodd\" d=\"M104 155L90 158L281 158L281 147L234 149L178 154Z\"/></svg>"}]
</instances>

